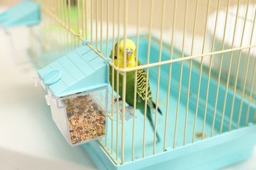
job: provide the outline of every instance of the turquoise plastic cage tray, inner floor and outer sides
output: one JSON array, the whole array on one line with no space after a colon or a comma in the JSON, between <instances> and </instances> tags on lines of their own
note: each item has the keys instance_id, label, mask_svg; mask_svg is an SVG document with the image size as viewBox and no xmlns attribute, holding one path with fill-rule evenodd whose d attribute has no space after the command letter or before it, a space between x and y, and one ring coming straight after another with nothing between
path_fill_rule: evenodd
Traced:
<instances>
[{"instance_id":1,"label":"turquoise plastic cage tray, inner floor and outer sides","mask_svg":"<svg viewBox=\"0 0 256 170\"><path fill-rule=\"evenodd\" d=\"M136 39L133 39L136 41ZM109 41L112 42L112 41ZM108 56L112 50L112 44L109 44ZM146 56L148 51L148 41L140 37L139 41L139 59L142 64L146 63ZM106 44L103 44L103 54L106 54ZM150 63L158 62L159 56L159 42L152 41L150 44ZM173 58L181 56L181 52L174 50ZM161 61L170 58L170 48L163 48ZM111 158L106 154L104 149L97 141L83 144L83 148L91 156L92 160L99 169L219 169L234 163L250 158L253 146L256 143L256 126L253 124L253 116L255 113L255 103L251 103L249 107L249 124L245 126L245 118L247 113L247 99L243 100L242 116L240 128L236 129L238 121L238 113L240 110L241 96L236 93L234 101L234 114L232 118L231 131L228 131L230 120L230 110L232 105L232 89L228 89L228 96L226 99L226 109L224 114L223 133L219 135L221 126L221 116L223 110L225 84L219 86L219 98L217 103L217 112L215 118L215 126L213 137L211 137L211 126L213 122L213 109L215 106L215 97L217 91L217 80L210 79L209 97L207 103L207 116L205 119L205 137L202 140L200 137L195 139L192 143L192 132L194 129L194 118L196 112L196 97L198 94L198 80L200 75L200 68L195 64L192 65L191 82L190 82L190 101L188 108L188 123L186 132L186 145L183 145L184 139L184 122L186 114L186 96L188 91L188 75L189 75L189 61L184 61L182 67L182 87L181 99L179 106L179 119L177 124L177 139L175 149L173 149L173 136L175 129L175 118L177 111L177 98L179 91L179 79L181 62L172 64L171 74L171 94L169 100L169 118L167 129L167 141L165 152L163 152L163 135L165 122L165 108L167 99L167 82L169 74L169 64L161 66L160 75L160 98L159 107L163 112L161 116L158 114L158 133L161 137L160 143L156 144L156 154L152 155L153 131L148 120L146 124L146 148L145 158L142 158L142 129L144 116L140 114L139 110L136 112L136 133L135 133L135 161L131 161L132 148L132 126L133 120L125 122L125 163L123 165L116 165ZM194 61L196 63L196 61ZM153 100L156 101L157 88L157 74L158 67L151 67L149 69L149 81L153 95ZM205 108L205 93L207 90L207 73L202 73L202 81L200 87L200 100L198 104L198 117L196 124L196 131L200 132L203 128L203 116ZM111 91L111 90L110 90ZM116 158L116 122L114 122L114 153ZM111 144L111 121L108 121L108 146ZM119 126L119 148L118 156L119 162L121 160L121 124ZM104 143L104 140L102 141Z\"/></svg>"}]
</instances>

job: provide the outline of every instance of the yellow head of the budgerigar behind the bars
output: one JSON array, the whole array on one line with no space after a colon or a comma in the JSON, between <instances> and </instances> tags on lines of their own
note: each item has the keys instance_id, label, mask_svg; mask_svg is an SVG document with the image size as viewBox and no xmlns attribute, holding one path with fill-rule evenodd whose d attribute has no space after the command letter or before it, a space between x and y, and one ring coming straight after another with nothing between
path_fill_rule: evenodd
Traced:
<instances>
[{"instance_id":1,"label":"yellow head of the budgerigar behind the bars","mask_svg":"<svg viewBox=\"0 0 256 170\"><path fill-rule=\"evenodd\" d=\"M118 43L118 42L117 42ZM135 67L135 52L136 52L136 45L131 39L126 39L125 47L124 47L124 40L119 41L119 49L118 44L115 45L115 52L114 52L114 64L117 66L117 60L119 60L119 68L123 67L123 53L126 53L126 67ZM117 52L119 50L119 59Z\"/></svg>"}]
</instances>

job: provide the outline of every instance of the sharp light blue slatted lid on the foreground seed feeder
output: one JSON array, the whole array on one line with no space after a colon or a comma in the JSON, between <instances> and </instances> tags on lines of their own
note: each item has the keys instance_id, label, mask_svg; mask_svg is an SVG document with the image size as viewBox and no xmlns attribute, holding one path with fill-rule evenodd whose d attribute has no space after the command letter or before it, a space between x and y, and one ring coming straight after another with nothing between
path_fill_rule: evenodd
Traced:
<instances>
[{"instance_id":1,"label":"sharp light blue slatted lid on the foreground seed feeder","mask_svg":"<svg viewBox=\"0 0 256 170\"><path fill-rule=\"evenodd\" d=\"M56 97L108 86L108 63L86 44L37 72Z\"/></svg>"}]
</instances>

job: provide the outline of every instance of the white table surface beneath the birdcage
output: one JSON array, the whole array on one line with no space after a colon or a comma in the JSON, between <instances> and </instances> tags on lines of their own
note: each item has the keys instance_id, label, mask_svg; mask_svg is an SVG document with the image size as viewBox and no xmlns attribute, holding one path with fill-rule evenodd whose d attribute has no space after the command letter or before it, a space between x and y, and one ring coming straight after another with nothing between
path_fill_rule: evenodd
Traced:
<instances>
[{"instance_id":1,"label":"white table surface beneath the birdcage","mask_svg":"<svg viewBox=\"0 0 256 170\"><path fill-rule=\"evenodd\" d=\"M43 88L33 86L37 73L24 57L28 29L10 31L18 44L18 62L9 36L0 29L0 169L96 169L81 146L66 143L45 103ZM252 158L226 169L256 169L256 148Z\"/></svg>"}]
</instances>

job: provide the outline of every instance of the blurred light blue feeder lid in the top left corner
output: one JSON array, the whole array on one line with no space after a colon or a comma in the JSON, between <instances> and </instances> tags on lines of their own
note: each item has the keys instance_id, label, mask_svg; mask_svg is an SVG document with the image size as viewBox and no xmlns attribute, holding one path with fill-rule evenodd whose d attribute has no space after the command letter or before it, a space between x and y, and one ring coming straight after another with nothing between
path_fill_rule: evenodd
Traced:
<instances>
[{"instance_id":1,"label":"blurred light blue feeder lid in the top left corner","mask_svg":"<svg viewBox=\"0 0 256 170\"><path fill-rule=\"evenodd\" d=\"M41 21L41 5L33 1L22 1L0 14L0 24L7 27L35 25Z\"/></svg>"}]
</instances>

